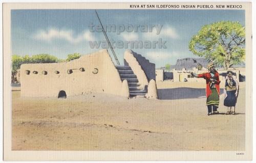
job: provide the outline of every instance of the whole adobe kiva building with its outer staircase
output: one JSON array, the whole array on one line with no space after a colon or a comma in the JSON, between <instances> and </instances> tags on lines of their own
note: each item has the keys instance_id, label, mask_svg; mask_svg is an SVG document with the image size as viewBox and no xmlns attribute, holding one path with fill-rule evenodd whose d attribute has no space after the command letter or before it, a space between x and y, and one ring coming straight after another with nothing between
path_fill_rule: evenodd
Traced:
<instances>
[{"instance_id":1,"label":"whole adobe kiva building with its outer staircase","mask_svg":"<svg viewBox=\"0 0 256 163\"><path fill-rule=\"evenodd\" d=\"M67 97L106 93L124 97L157 98L155 64L126 50L124 66L115 66L102 49L63 63L23 64L20 88L23 97Z\"/></svg>"}]
</instances>

